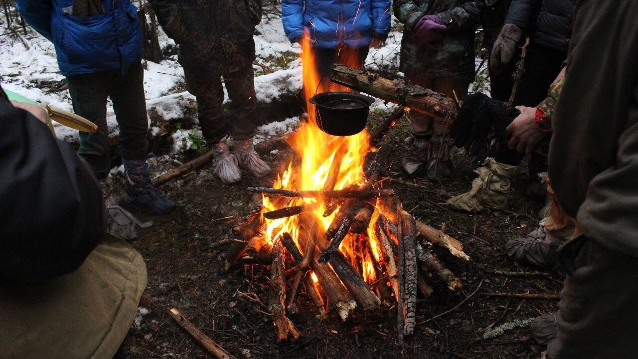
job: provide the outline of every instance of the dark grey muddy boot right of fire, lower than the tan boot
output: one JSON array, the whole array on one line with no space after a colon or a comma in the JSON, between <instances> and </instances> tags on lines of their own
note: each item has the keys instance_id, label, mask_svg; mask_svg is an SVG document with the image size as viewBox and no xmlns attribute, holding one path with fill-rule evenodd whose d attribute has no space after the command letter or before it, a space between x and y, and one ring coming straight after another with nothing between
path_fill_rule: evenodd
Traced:
<instances>
[{"instance_id":1,"label":"dark grey muddy boot right of fire, lower than the tan boot","mask_svg":"<svg viewBox=\"0 0 638 359\"><path fill-rule=\"evenodd\" d=\"M558 263L558 252L567 239L554 235L545 228L545 220L525 238L507 241L507 256L518 263L552 269Z\"/></svg>"}]
</instances>

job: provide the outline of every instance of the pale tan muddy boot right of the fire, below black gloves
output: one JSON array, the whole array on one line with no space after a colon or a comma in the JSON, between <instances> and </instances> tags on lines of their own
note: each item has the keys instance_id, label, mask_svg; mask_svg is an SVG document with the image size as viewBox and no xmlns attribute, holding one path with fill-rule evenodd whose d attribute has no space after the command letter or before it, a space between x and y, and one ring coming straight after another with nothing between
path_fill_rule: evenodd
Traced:
<instances>
[{"instance_id":1,"label":"pale tan muddy boot right of the fire, below black gloves","mask_svg":"<svg viewBox=\"0 0 638 359\"><path fill-rule=\"evenodd\" d=\"M487 158L483 166L475 169L479 177L472 181L472 188L464 194L447 200L455 210L478 212L485 208L505 208L510 192L510 179L516 166L500 164Z\"/></svg>"}]
</instances>

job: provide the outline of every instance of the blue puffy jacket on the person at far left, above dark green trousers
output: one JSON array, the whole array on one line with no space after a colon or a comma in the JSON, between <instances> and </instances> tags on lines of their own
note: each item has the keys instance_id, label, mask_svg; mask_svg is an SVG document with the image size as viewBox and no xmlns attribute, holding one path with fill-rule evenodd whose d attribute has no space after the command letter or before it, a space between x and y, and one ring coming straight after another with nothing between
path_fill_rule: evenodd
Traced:
<instances>
[{"instance_id":1,"label":"blue puffy jacket on the person at far left, above dark green trousers","mask_svg":"<svg viewBox=\"0 0 638 359\"><path fill-rule=\"evenodd\" d=\"M73 0L17 0L26 22L56 46L63 75L118 70L142 58L142 30L130 0L102 0L105 13L70 15Z\"/></svg>"}]
</instances>

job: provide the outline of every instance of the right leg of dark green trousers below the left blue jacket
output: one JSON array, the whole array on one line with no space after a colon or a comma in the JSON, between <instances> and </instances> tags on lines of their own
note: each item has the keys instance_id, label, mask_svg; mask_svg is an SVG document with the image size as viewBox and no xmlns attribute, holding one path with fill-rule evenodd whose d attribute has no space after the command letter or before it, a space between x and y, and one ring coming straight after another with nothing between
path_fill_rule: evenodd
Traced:
<instances>
[{"instance_id":1,"label":"right leg of dark green trousers below the left blue jacket","mask_svg":"<svg viewBox=\"0 0 638 359\"><path fill-rule=\"evenodd\" d=\"M144 98L144 68L131 66L127 73L115 76L110 91L115 118L119 125L119 149L126 160L145 160L149 151L146 132L149 121Z\"/></svg>"}]
</instances>

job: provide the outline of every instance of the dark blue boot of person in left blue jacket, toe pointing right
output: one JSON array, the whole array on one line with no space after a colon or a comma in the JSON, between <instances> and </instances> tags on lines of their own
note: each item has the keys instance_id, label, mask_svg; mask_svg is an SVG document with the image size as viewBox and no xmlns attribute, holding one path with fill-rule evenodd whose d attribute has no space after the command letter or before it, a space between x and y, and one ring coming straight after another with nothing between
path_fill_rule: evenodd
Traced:
<instances>
[{"instance_id":1,"label":"dark blue boot of person in left blue jacket, toe pointing right","mask_svg":"<svg viewBox=\"0 0 638 359\"><path fill-rule=\"evenodd\" d=\"M151 171L146 160L124 160L124 202L135 208L146 208L154 215L165 215L175 210L175 202L161 195L151 182Z\"/></svg>"}]
</instances>

